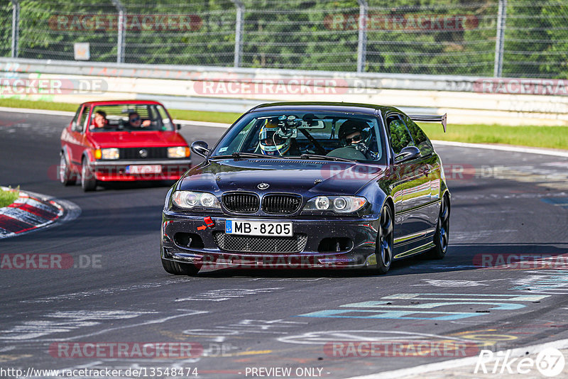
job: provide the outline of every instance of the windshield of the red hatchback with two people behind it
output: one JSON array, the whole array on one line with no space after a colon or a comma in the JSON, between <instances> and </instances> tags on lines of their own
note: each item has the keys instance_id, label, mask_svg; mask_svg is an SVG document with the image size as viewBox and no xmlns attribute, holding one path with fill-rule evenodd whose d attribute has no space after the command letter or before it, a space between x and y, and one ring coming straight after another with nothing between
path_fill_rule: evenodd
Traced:
<instances>
[{"instance_id":1,"label":"windshield of the red hatchback with two people behind it","mask_svg":"<svg viewBox=\"0 0 568 379\"><path fill-rule=\"evenodd\" d=\"M89 120L89 131L175 131L175 126L158 104L98 105Z\"/></svg>"}]
</instances>

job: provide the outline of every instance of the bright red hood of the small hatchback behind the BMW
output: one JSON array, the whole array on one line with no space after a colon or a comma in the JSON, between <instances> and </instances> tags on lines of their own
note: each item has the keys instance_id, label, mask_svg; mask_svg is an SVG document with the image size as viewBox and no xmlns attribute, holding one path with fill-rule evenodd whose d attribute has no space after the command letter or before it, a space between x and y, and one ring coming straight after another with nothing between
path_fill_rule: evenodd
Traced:
<instances>
[{"instance_id":1,"label":"bright red hood of the small hatchback behind the BMW","mask_svg":"<svg viewBox=\"0 0 568 379\"><path fill-rule=\"evenodd\" d=\"M164 148L187 146L175 131L109 131L91 133L88 137L97 148Z\"/></svg>"}]
</instances>

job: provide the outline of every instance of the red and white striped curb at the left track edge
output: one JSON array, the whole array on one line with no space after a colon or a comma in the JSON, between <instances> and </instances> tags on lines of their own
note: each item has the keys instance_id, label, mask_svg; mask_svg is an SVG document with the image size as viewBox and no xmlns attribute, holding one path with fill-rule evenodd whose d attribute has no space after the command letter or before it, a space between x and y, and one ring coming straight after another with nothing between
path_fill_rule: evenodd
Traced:
<instances>
[{"instance_id":1,"label":"red and white striped curb at the left track edge","mask_svg":"<svg viewBox=\"0 0 568 379\"><path fill-rule=\"evenodd\" d=\"M8 190L6 187L1 187ZM67 207L48 196L33 192L20 191L20 197L8 207L0 208L0 238L17 236L36 229L51 226L65 216ZM80 210L71 204L72 212L67 212L75 219ZM68 219L69 217L65 217Z\"/></svg>"}]
</instances>

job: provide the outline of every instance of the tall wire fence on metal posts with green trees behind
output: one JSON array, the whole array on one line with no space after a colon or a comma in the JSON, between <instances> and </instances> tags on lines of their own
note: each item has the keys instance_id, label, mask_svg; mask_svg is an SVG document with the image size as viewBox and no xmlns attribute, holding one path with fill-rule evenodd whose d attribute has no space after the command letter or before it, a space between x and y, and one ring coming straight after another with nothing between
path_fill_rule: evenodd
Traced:
<instances>
[{"instance_id":1,"label":"tall wire fence on metal posts with green trees behind","mask_svg":"<svg viewBox=\"0 0 568 379\"><path fill-rule=\"evenodd\" d=\"M565 1L193 1L4 0L0 55L89 43L98 62L568 77Z\"/></svg>"}]
</instances>

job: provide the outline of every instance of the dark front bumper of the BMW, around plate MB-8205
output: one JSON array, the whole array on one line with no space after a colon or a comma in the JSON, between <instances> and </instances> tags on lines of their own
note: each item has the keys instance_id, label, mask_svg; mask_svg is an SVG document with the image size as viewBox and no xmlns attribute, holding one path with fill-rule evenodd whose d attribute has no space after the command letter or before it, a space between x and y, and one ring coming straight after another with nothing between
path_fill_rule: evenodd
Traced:
<instances>
[{"instance_id":1,"label":"dark front bumper of the BMW, around plate MB-8205","mask_svg":"<svg viewBox=\"0 0 568 379\"><path fill-rule=\"evenodd\" d=\"M211 217L213 226L211 223L207 226L204 221L207 216ZM218 238L218 234L224 234L226 219L291 221L294 235L307 236L307 241L302 243L301 251L294 252L228 250L220 247ZM163 213L162 221L162 258L202 268L364 268L376 264L378 219L372 216L352 219L252 218L222 214L194 216L167 211ZM329 244L322 242L325 238L326 241L344 238L342 241L349 240L349 243L330 249ZM328 248L322 249L322 246Z\"/></svg>"}]
</instances>

